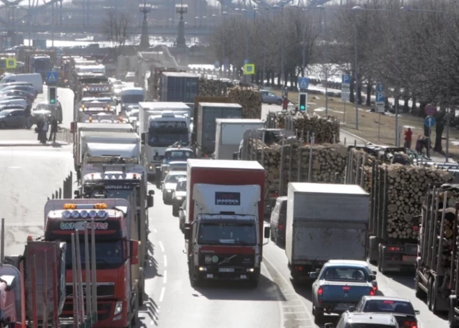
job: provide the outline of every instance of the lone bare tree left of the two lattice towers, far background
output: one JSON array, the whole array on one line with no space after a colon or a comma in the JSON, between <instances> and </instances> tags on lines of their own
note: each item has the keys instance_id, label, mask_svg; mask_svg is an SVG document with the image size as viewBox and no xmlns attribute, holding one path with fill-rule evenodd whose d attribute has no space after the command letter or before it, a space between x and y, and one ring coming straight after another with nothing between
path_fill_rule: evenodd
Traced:
<instances>
[{"instance_id":1,"label":"lone bare tree left of the two lattice towers, far background","mask_svg":"<svg viewBox=\"0 0 459 328\"><path fill-rule=\"evenodd\" d=\"M108 10L106 19L102 22L102 32L106 40L111 43L118 56L120 48L126 45L129 40L130 25L132 17L127 13L116 13L114 10Z\"/></svg>"}]
</instances>

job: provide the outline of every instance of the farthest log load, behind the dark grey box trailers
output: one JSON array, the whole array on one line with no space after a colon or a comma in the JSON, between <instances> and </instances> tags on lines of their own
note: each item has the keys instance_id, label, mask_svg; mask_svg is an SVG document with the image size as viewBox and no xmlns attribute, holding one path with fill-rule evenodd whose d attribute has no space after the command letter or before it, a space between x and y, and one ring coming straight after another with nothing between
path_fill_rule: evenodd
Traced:
<instances>
[{"instance_id":1,"label":"farthest log load, behind the dark grey box trailers","mask_svg":"<svg viewBox=\"0 0 459 328\"><path fill-rule=\"evenodd\" d=\"M261 93L256 88L237 86L232 82L200 79L198 95L218 97L227 95L242 106L242 118L261 118Z\"/></svg>"}]
</instances>

